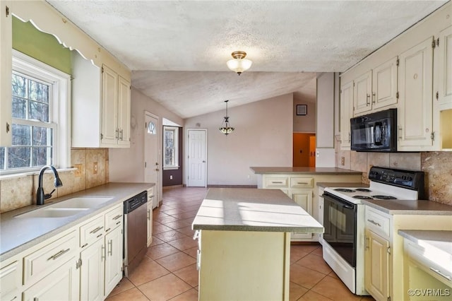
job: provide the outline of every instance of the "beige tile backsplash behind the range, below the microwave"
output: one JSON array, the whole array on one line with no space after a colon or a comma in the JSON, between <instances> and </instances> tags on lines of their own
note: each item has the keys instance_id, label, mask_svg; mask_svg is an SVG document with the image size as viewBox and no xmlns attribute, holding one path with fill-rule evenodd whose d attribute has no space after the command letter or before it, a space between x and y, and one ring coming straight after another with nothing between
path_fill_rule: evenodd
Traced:
<instances>
[{"instance_id":1,"label":"beige tile backsplash behind the range, below the microwave","mask_svg":"<svg viewBox=\"0 0 452 301\"><path fill-rule=\"evenodd\" d=\"M452 152L421 153L362 153L341 151L336 137L336 167L362 172L363 183L369 184L370 167L393 167L401 170L422 170L425 172L425 199L452 206ZM344 158L344 165L342 165Z\"/></svg>"}]
</instances>

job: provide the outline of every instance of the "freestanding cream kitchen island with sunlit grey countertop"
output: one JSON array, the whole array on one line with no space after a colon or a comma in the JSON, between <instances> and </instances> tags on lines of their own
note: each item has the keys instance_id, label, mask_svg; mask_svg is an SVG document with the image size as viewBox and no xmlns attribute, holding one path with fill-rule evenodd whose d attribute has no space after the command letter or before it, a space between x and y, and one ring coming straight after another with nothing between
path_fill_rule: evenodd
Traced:
<instances>
[{"instance_id":1,"label":"freestanding cream kitchen island with sunlit grey countertop","mask_svg":"<svg viewBox=\"0 0 452 301\"><path fill-rule=\"evenodd\" d=\"M199 300L289 300L290 233L323 227L279 189L209 189L192 228Z\"/></svg>"}]
</instances>

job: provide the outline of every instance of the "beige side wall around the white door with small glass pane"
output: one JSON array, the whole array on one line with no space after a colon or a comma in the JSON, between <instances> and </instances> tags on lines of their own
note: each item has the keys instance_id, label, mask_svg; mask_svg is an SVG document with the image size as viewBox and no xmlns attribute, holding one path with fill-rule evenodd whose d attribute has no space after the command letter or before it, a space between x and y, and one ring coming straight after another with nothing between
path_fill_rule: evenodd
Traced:
<instances>
[{"instance_id":1,"label":"beige side wall around the white door with small glass pane","mask_svg":"<svg viewBox=\"0 0 452 301\"><path fill-rule=\"evenodd\" d=\"M135 88L131 90L131 143L130 148L109 148L109 180L111 182L143 182L144 181L144 113L157 115L159 118L159 151L162 147L162 118L180 125L184 119L162 107ZM161 151L159 164L162 166ZM162 173L157 185L159 200L162 198Z\"/></svg>"}]
</instances>

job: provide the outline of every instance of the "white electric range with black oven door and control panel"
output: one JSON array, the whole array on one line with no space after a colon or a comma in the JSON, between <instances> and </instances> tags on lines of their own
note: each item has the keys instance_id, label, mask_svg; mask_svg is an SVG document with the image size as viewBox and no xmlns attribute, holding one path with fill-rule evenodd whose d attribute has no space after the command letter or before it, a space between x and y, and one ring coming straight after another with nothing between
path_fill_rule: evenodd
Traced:
<instances>
[{"instance_id":1,"label":"white electric range with black oven door and control panel","mask_svg":"<svg viewBox=\"0 0 452 301\"><path fill-rule=\"evenodd\" d=\"M424 193L424 172L371 167L369 180L369 188L326 187L323 191L323 259L357 295L368 295L362 200L417 200Z\"/></svg>"}]
</instances>

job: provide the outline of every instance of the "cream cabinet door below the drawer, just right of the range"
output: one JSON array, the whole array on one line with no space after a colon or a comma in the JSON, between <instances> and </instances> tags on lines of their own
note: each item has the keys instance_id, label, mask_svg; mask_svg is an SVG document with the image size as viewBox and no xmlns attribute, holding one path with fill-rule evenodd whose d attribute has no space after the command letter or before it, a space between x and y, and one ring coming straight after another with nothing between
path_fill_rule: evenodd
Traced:
<instances>
[{"instance_id":1,"label":"cream cabinet door below the drawer, just right of the range","mask_svg":"<svg viewBox=\"0 0 452 301\"><path fill-rule=\"evenodd\" d=\"M365 230L364 285L376 300L389 297L389 242L374 232Z\"/></svg>"}]
</instances>

